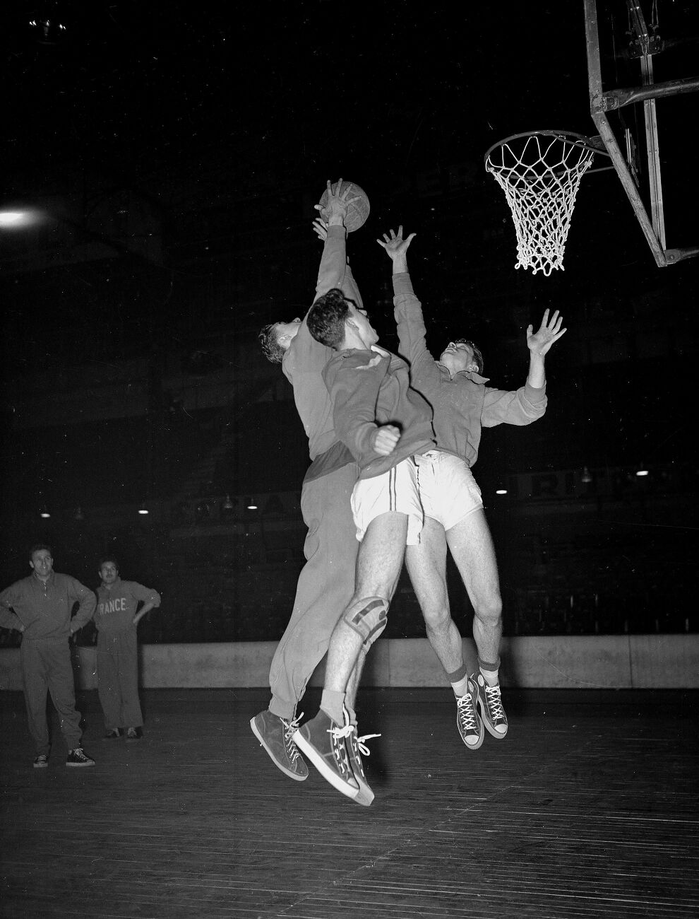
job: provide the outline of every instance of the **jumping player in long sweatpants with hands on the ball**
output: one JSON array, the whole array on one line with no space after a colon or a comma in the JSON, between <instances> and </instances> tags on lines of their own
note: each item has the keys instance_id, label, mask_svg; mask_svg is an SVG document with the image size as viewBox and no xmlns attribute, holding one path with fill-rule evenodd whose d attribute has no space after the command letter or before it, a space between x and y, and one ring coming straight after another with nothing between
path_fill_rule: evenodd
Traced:
<instances>
[{"instance_id":1,"label":"jumping player in long sweatpants with hands on the ball","mask_svg":"<svg viewBox=\"0 0 699 919\"><path fill-rule=\"evenodd\" d=\"M361 296L347 262L345 217L351 185L335 194L327 182L327 226L318 269L316 299L339 288L361 308ZM316 227L316 232L317 232ZM301 511L308 533L305 566L299 575L294 608L274 652L270 669L272 699L269 708L252 720L250 728L272 762L297 781L308 776L308 766L296 749L293 734L298 726L296 706L316 665L327 651L330 634L354 590L358 543L352 522L350 495L358 467L350 450L340 443L333 427L332 406L321 372L332 350L310 335L307 316L302 321L272 323L261 330L265 356L281 363L294 387L294 402L308 436L311 465L301 490ZM353 703L361 674L363 654L350 679L347 708L355 720ZM299 718L301 716L299 715Z\"/></svg>"}]
</instances>

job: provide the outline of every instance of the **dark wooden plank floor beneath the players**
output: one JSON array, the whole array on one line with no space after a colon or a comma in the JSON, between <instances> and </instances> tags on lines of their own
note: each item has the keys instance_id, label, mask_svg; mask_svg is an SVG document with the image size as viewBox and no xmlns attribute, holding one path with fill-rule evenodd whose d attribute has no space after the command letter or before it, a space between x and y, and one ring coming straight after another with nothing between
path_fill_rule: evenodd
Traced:
<instances>
[{"instance_id":1,"label":"dark wooden plank floor beneath the players","mask_svg":"<svg viewBox=\"0 0 699 919\"><path fill-rule=\"evenodd\" d=\"M150 691L127 745L86 693L97 766L67 769L59 735L35 770L0 695L0 915L699 916L699 693L510 691L509 735L472 752L448 688L364 690L370 808L272 766L267 700Z\"/></svg>"}]
</instances>

